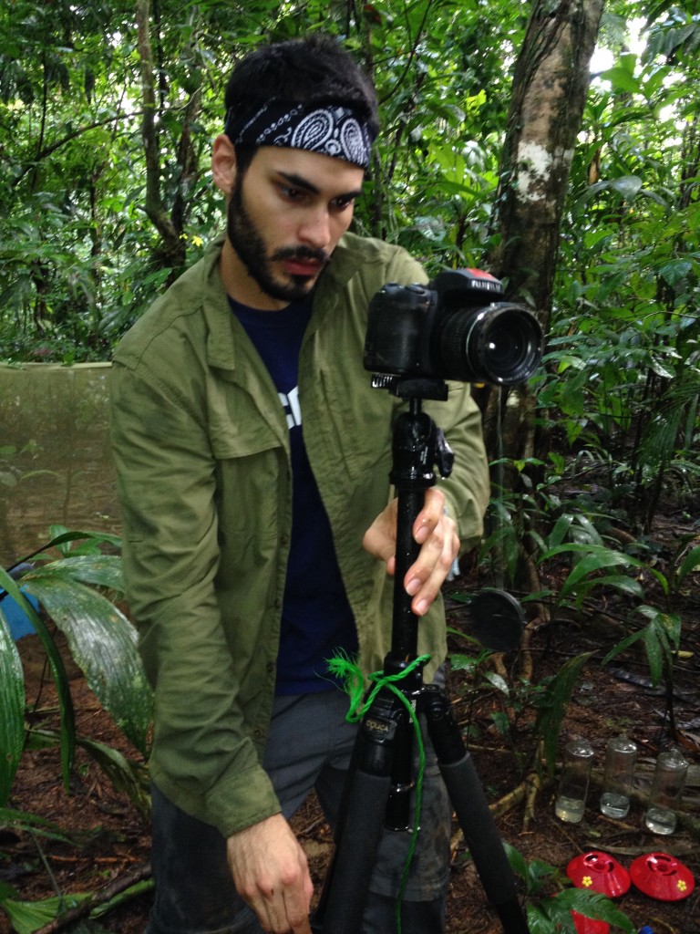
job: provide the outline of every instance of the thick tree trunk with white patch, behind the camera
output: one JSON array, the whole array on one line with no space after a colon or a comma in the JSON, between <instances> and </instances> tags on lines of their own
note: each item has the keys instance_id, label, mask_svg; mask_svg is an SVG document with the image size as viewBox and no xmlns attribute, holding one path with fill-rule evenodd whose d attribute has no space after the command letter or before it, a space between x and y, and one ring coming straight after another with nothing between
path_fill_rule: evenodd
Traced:
<instances>
[{"instance_id":1,"label":"thick tree trunk with white patch, behind the camera","mask_svg":"<svg viewBox=\"0 0 700 934\"><path fill-rule=\"evenodd\" d=\"M487 259L508 297L528 304L547 333L552 312L568 174L590 82L602 0L534 0L513 76L495 222L499 246ZM491 389L486 444L507 457L533 454L532 400L524 388Z\"/></svg>"}]
</instances>

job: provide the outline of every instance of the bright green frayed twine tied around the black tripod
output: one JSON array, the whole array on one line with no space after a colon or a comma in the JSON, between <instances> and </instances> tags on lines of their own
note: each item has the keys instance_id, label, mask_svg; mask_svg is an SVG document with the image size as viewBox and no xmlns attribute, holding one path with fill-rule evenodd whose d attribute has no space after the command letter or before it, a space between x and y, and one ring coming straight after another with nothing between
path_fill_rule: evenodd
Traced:
<instances>
[{"instance_id":1,"label":"bright green frayed twine tied around the black tripod","mask_svg":"<svg viewBox=\"0 0 700 934\"><path fill-rule=\"evenodd\" d=\"M413 732L415 734L416 747L418 749L418 774L415 779L415 808L413 814L413 829L411 831L411 843L409 845L408 854L406 855L406 860L403 864L401 882L399 884L399 894L397 896L396 926L398 934L401 932L401 902L406 891L409 870L411 870L413 856L415 854L415 849L418 843L418 829L420 828L421 801L423 796L423 776L426 771L426 747L423 743L423 736L421 735L418 716L415 713L413 704L411 701L409 701L398 684L404 678L408 677L409 674L412 674L416 668L418 668L420 665L425 665L429 660L429 655L422 655L419 658L414 658L413 661L410 662L402 672L398 672L397 674L372 672L370 675L368 675L368 678L370 681L374 682L374 686L371 688L370 693L367 695L367 698L364 701L363 697L365 693L365 678L355 662L353 662L350 658L348 658L347 655L343 653L339 653L333 658L329 658L328 661L329 672L343 681L345 692L350 698L350 709L345 715L345 720L348 723L358 723L367 713L367 711L370 710L377 694L383 688L385 688L386 690L390 690L399 698L399 701L401 701L403 706L408 711L408 714L411 717L411 723L413 724Z\"/></svg>"}]
</instances>

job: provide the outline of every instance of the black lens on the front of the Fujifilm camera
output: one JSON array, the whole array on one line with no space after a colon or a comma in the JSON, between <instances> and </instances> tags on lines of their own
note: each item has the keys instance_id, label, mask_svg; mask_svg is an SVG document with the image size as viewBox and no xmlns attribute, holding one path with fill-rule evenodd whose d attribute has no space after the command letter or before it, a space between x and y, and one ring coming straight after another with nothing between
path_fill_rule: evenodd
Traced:
<instances>
[{"instance_id":1,"label":"black lens on the front of the Fujifilm camera","mask_svg":"<svg viewBox=\"0 0 700 934\"><path fill-rule=\"evenodd\" d=\"M539 321L518 304L453 311L437 336L433 353L448 379L511 386L532 375L541 358Z\"/></svg>"}]
</instances>

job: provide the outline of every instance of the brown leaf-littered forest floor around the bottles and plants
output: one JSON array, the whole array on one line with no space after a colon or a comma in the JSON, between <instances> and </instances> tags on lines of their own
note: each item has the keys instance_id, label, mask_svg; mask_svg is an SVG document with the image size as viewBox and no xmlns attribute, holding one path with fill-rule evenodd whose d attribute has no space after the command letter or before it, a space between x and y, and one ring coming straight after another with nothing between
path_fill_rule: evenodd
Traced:
<instances>
[{"instance_id":1,"label":"brown leaf-littered forest floor around the bottles and plants","mask_svg":"<svg viewBox=\"0 0 700 934\"><path fill-rule=\"evenodd\" d=\"M665 517L669 547L682 533L682 517ZM694 531L694 527L690 527ZM688 531L688 528L685 529ZM692 575L696 577L697 575ZM470 582L469 582L470 583ZM449 624L469 630L469 612L463 603L450 599L467 583L460 579L447 591ZM500 671L511 686L527 670L525 686L512 688L506 697L496 686L486 686L484 674L490 662L476 673L455 670L448 690L455 715L462 726L477 773L496 816L502 838L527 860L541 860L564 876L576 856L601 851L614 856L625 868L640 855L663 852L676 857L700 879L700 591L696 582L676 598L672 609L682 617L682 656L674 666L673 715L676 740L692 763L677 832L670 837L654 836L642 826L645 795L651 782L653 761L668 743L669 704L663 687L651 686L649 669L640 648L627 650L612 665L602 659L627 630L619 622L624 606L608 601L587 604L580 613L567 612L548 625L535 629L526 651L506 653L498 660ZM25 670L27 702L35 722L50 725L55 719L55 694L46 673L45 658L34 636L20 640ZM463 638L452 637L454 653L478 654ZM560 746L569 738L585 737L595 749L595 768L587 807L580 824L559 820L553 809L554 779L541 768L534 729L538 695L569 658L591 652L581 678L574 687L563 720ZM137 754L105 715L80 672L72 670L71 689L77 711L78 732L119 748L125 755ZM639 747L637 779L630 814L611 820L599 813L597 800L605 745L611 736L625 731ZM534 797L527 789L535 785L528 776L542 778ZM518 789L512 794L513 789ZM68 791L60 779L56 748L26 752L21 760L10 806L55 822L70 842L50 840L0 826L0 885L12 885L21 899L46 899L57 893L97 892L104 899L129 882L145 881L146 891L119 908L91 922L63 923L41 928L49 931L110 931L141 934L152 892L149 879L149 834L147 821L123 795L116 792L105 773L85 753L79 752L77 768ZM315 881L320 883L330 853L329 832L315 800L309 800L294 820L294 827L307 851ZM565 882L566 882L565 877ZM317 886L318 887L318 886ZM545 890L554 894L554 878ZM700 886L688 898L661 901L643 895L633 885L618 899L618 907L637 928L651 926L654 934L700 934ZM455 826L454 860L447 906L448 934L497 934L497 913L484 896L473 863ZM12 931L0 912L0 932ZM389 934L389 932L387 932Z\"/></svg>"}]
</instances>

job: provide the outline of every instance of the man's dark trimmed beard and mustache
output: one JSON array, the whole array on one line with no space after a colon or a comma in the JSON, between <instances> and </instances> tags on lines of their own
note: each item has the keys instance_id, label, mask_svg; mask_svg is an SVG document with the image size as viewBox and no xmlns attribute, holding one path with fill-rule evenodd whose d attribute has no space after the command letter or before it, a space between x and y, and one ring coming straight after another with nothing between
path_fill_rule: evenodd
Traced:
<instances>
[{"instance_id":1,"label":"man's dark trimmed beard and mustache","mask_svg":"<svg viewBox=\"0 0 700 934\"><path fill-rule=\"evenodd\" d=\"M231 204L227 217L227 233L232 248L245 265L251 276L266 295L283 302L299 302L306 298L315 285L310 284L312 276L289 276L288 281L280 281L273 274L273 262L285 260L313 260L319 263L319 269L330 262L329 254L322 249L312 247L282 247L268 257L265 242L253 219L245 210L243 203L243 178L236 178L231 191Z\"/></svg>"}]
</instances>

